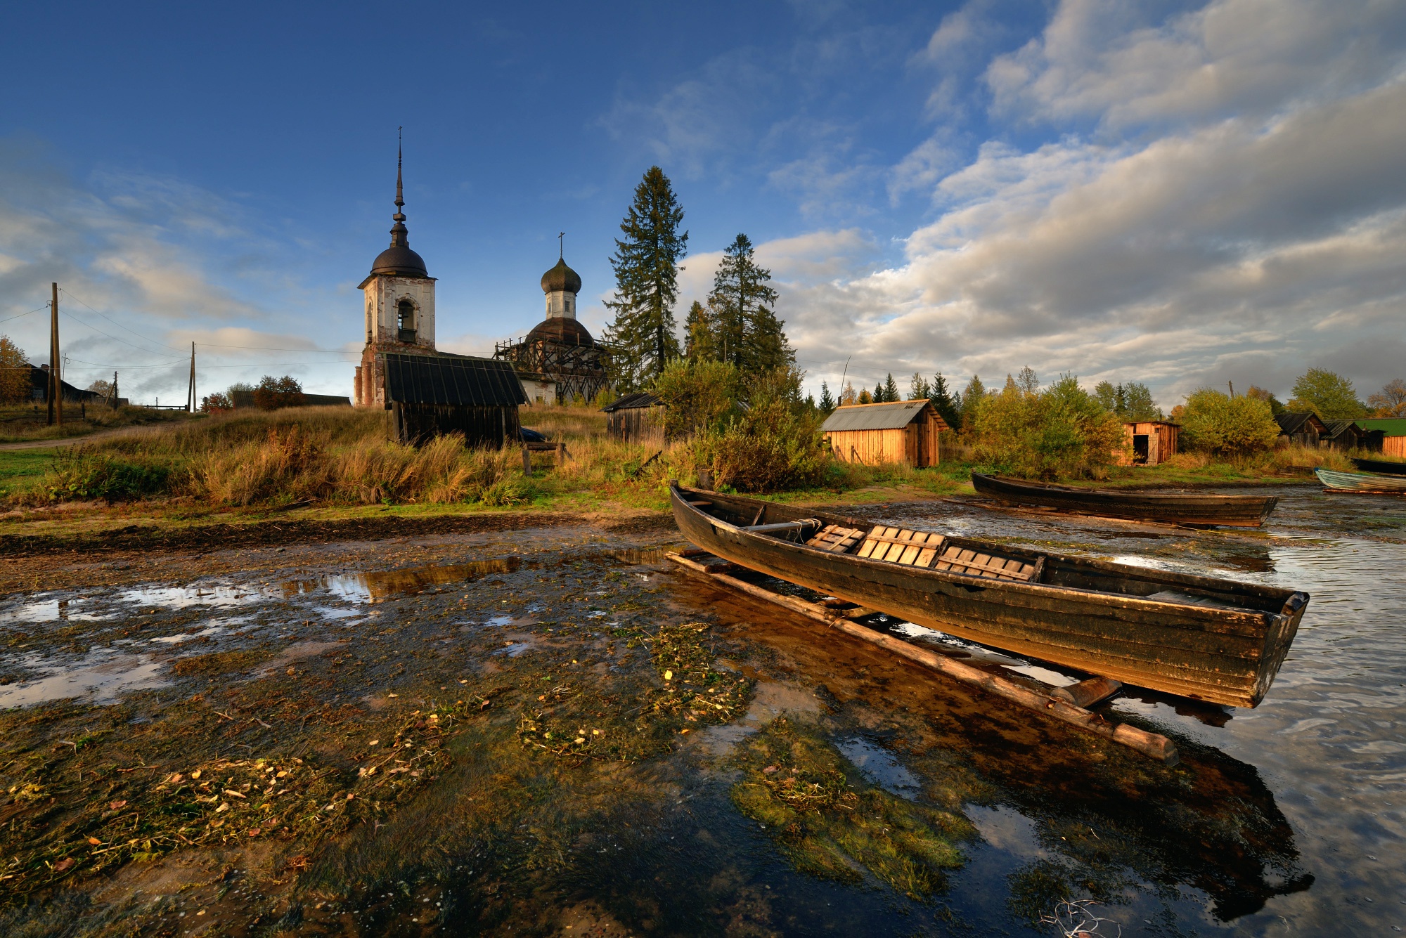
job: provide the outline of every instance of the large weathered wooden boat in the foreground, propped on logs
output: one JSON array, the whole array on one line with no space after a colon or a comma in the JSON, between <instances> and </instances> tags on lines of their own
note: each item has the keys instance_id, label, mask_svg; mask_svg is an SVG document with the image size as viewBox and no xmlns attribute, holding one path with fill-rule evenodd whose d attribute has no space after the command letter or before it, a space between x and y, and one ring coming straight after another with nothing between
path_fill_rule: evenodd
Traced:
<instances>
[{"instance_id":1,"label":"large weathered wooden boat in the foreground, propped on logs","mask_svg":"<svg viewBox=\"0 0 1406 938\"><path fill-rule=\"evenodd\" d=\"M671 489L699 548L1017 654L1213 704L1256 706L1306 593L875 525Z\"/></svg>"}]
</instances>

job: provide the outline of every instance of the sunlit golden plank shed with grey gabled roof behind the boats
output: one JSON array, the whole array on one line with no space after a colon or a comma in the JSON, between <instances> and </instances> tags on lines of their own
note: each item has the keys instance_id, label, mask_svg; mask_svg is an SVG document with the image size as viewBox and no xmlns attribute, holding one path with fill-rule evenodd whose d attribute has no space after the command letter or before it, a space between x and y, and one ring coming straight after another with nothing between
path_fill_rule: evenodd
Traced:
<instances>
[{"instance_id":1,"label":"sunlit golden plank shed with grey gabled roof behind the boats","mask_svg":"<svg viewBox=\"0 0 1406 938\"><path fill-rule=\"evenodd\" d=\"M938 434L948 424L931 402L900 400L835 407L821 430L842 462L905 462L922 469L938 465Z\"/></svg>"}]
</instances>

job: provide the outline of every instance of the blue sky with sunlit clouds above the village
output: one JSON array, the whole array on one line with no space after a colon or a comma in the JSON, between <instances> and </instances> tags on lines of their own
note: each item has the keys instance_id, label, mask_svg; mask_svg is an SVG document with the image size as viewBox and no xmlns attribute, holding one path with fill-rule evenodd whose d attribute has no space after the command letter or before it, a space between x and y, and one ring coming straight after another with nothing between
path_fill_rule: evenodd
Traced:
<instances>
[{"instance_id":1,"label":"blue sky with sunlit clouds above the village","mask_svg":"<svg viewBox=\"0 0 1406 938\"><path fill-rule=\"evenodd\" d=\"M651 164L676 309L737 233L806 386L1031 366L1170 409L1309 366L1406 378L1406 4L972 0L25 4L0 66L0 333L180 403L291 374L350 395L357 285L411 246L439 347L599 336ZM38 312L34 312L38 310Z\"/></svg>"}]
</instances>

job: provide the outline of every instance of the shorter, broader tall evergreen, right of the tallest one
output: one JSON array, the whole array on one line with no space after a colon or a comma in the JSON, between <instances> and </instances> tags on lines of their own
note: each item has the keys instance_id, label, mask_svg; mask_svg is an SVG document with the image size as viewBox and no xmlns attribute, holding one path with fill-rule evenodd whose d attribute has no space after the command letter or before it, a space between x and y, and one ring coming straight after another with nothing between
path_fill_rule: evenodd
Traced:
<instances>
[{"instance_id":1,"label":"shorter, broader tall evergreen, right of the tallest one","mask_svg":"<svg viewBox=\"0 0 1406 938\"><path fill-rule=\"evenodd\" d=\"M717 265L707 298L714 354L749 372L794 365L796 352L782 331L785 323L772 312L772 272L758 267L754 254L752 242L738 234Z\"/></svg>"}]
</instances>

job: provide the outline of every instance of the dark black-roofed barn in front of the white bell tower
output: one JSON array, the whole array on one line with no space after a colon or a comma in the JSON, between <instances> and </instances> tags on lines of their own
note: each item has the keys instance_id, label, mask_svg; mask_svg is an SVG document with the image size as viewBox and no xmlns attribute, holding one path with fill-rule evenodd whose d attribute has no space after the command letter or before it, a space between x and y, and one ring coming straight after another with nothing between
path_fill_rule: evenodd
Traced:
<instances>
[{"instance_id":1,"label":"dark black-roofed barn in front of the white bell tower","mask_svg":"<svg viewBox=\"0 0 1406 938\"><path fill-rule=\"evenodd\" d=\"M380 352L377 359L401 442L419 445L450 432L464 434L470 447L517 442L517 407L527 396L509 362L399 352Z\"/></svg>"}]
</instances>

